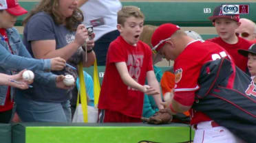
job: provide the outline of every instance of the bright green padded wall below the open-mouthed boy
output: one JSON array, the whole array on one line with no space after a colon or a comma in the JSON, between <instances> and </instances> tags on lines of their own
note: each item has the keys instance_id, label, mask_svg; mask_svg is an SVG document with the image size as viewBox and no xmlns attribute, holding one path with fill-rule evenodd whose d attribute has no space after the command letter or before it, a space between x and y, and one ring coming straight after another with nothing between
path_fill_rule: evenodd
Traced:
<instances>
[{"instance_id":1,"label":"bright green padded wall below the open-mouthed boy","mask_svg":"<svg viewBox=\"0 0 256 143\"><path fill-rule=\"evenodd\" d=\"M188 125L174 123L20 123L12 127L12 143L175 143L190 138Z\"/></svg>"}]
</instances>

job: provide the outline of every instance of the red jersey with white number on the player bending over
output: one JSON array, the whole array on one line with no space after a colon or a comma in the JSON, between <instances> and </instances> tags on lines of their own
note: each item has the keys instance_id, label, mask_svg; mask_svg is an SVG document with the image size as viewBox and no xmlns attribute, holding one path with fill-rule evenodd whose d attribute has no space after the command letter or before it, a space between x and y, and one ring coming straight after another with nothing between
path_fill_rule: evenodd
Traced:
<instances>
[{"instance_id":1,"label":"red jersey with white number on the player bending over","mask_svg":"<svg viewBox=\"0 0 256 143\"><path fill-rule=\"evenodd\" d=\"M229 56L225 49L213 42L194 40L176 58L175 94L173 99L182 105L193 105L195 92L200 88L198 77L204 63ZM191 124L211 120L202 112L191 110Z\"/></svg>"}]
</instances>

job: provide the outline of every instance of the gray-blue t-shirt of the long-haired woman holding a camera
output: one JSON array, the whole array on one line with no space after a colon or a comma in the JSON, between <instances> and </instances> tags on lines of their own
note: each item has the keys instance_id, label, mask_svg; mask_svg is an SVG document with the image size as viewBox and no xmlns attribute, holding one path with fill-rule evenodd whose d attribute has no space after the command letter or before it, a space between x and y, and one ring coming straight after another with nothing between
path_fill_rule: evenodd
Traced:
<instances>
[{"instance_id":1,"label":"gray-blue t-shirt of the long-haired woman holding a camera","mask_svg":"<svg viewBox=\"0 0 256 143\"><path fill-rule=\"evenodd\" d=\"M31 41L56 40L56 49L61 49L70 42L74 41L74 34L74 31L68 30L64 25L56 25L49 14L45 12L39 12L32 16L27 25L25 25L23 42L30 54L34 57L31 48ZM75 58L70 58L70 60L67 62L73 66L76 66L79 61L83 60L82 51L82 49L78 49L78 51L72 56ZM68 67L66 67L64 70L54 71L52 73L56 75L72 74L75 79L77 77L76 71ZM70 90L61 90L54 87L44 87L36 81L34 81L32 86L34 86L34 88L25 90L23 93L25 93L25 96L28 96L30 99L35 101L50 101L60 103L71 98Z\"/></svg>"}]
</instances>

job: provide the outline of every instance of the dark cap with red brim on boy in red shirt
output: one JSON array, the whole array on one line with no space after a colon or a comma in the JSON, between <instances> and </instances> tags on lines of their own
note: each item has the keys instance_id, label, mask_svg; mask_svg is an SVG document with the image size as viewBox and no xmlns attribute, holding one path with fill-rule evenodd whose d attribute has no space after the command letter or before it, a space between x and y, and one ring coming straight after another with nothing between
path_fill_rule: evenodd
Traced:
<instances>
[{"instance_id":1,"label":"dark cap with red brim on boy in red shirt","mask_svg":"<svg viewBox=\"0 0 256 143\"><path fill-rule=\"evenodd\" d=\"M217 6L213 11L213 16L209 17L210 21L215 21L216 18L230 18L233 21L239 21L239 14L223 14L222 13L222 5Z\"/></svg>"}]
</instances>

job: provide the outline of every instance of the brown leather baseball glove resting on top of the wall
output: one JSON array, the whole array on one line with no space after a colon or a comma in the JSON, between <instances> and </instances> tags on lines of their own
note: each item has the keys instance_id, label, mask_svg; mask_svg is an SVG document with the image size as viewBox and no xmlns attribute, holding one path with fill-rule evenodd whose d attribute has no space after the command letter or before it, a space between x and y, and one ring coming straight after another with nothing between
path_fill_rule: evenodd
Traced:
<instances>
[{"instance_id":1,"label":"brown leather baseball glove resting on top of the wall","mask_svg":"<svg viewBox=\"0 0 256 143\"><path fill-rule=\"evenodd\" d=\"M153 114L153 116L149 118L141 118L143 122L148 122L149 124L169 124L171 120L173 120L173 116L168 111L169 109L164 108L160 109L158 112Z\"/></svg>"}]
</instances>

